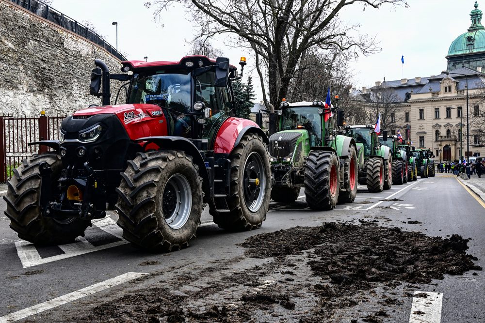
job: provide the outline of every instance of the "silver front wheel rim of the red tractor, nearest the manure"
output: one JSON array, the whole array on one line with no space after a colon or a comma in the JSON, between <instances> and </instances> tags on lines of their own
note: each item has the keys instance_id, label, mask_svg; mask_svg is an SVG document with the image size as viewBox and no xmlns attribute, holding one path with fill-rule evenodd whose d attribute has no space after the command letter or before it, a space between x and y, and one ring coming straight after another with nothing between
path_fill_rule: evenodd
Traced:
<instances>
[{"instance_id":1,"label":"silver front wheel rim of the red tractor, nearest the manure","mask_svg":"<svg viewBox=\"0 0 485 323\"><path fill-rule=\"evenodd\" d=\"M170 204L163 204L164 198L169 198ZM192 190L189 181L181 174L172 175L163 188L162 210L167 208L169 212L163 212L163 215L168 226L172 229L182 228L192 210Z\"/></svg>"}]
</instances>

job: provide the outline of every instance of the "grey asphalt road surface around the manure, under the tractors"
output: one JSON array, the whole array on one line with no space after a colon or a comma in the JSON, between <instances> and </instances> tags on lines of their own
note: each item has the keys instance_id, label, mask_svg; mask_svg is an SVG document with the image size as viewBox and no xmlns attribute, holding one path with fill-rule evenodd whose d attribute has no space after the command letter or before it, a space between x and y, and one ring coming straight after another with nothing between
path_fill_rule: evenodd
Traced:
<instances>
[{"instance_id":1,"label":"grey asphalt road surface around the manure, under the tractors","mask_svg":"<svg viewBox=\"0 0 485 323\"><path fill-rule=\"evenodd\" d=\"M120 231L113 224L115 214L110 216L112 220L104 220L89 228L85 241L72 246L36 248L21 242L9 229L9 220L3 215L5 202L0 200L0 323L8 322L5 316L11 313L14 313L11 318L20 319L19 322L63 321L66 313L77 313L80 308L125 291L153 285L162 277L170 279L173 272L196 271L213 266L214 261L240 260L244 248L238 244L254 234L295 226L318 226L330 221L358 224L358 219L377 220L381 226L397 226L406 231L420 231L443 238L457 233L471 238L468 252L478 257L478 265L485 265L485 203L477 200L454 176L437 174L434 178L420 179L407 185L394 185L391 190L382 193L371 194L361 188L354 203L338 205L335 210L327 212L309 210L304 196L291 206L272 202L266 221L255 231L233 233L220 230L205 212L203 226L198 229L197 238L192 240L191 246L164 254L147 253L119 239ZM398 200L382 201L386 199ZM407 224L410 220L421 224ZM145 261L160 263L141 266ZM252 260L247 261L250 263ZM62 297L94 284L102 285L108 279L130 272L155 275L131 283L113 283L115 286L108 285L109 288L100 288L99 291L94 288L87 292L90 295L78 295L77 299L72 295L74 298ZM485 279L482 271L470 271L462 276L447 275L443 280L418 287L419 291L442 294L440 322L485 322ZM392 289L387 292L392 293ZM402 291L396 287L396 294L399 292ZM56 298L59 304L66 300L72 302L53 309L49 309L49 304L55 302L44 304ZM401 302L398 310L384 322L421 322L410 321L414 307L412 297L402 297ZM34 306L37 306L34 309L38 314L26 316L33 312L22 312ZM372 302L363 306L369 311L379 307ZM352 313L349 313L350 317ZM275 321L280 319L275 318ZM287 322L292 322L291 318ZM350 322L350 319L338 322Z\"/></svg>"}]
</instances>

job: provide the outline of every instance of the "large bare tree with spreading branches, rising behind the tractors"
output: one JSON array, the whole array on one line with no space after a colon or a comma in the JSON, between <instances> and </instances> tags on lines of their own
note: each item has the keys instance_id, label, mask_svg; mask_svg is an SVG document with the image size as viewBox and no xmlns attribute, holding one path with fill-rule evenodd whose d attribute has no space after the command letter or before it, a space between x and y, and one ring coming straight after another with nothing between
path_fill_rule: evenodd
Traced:
<instances>
[{"instance_id":1,"label":"large bare tree with spreading branches, rising behind the tractors","mask_svg":"<svg viewBox=\"0 0 485 323\"><path fill-rule=\"evenodd\" d=\"M374 38L350 35L357 33L358 26L344 26L339 20L344 7L356 3L364 9L407 6L405 0L151 0L146 6L153 5L158 16L175 3L182 4L200 26L198 36L229 33L234 46L252 50L267 106L287 96L291 79L311 49L338 49L353 55L378 50Z\"/></svg>"}]
</instances>

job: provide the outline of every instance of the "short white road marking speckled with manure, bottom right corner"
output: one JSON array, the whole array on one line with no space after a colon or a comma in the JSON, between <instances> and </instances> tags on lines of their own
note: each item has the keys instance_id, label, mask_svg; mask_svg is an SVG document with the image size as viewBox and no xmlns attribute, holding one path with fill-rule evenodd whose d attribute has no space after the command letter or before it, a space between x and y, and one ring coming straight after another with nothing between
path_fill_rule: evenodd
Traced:
<instances>
[{"instance_id":1,"label":"short white road marking speckled with manure, bottom right corner","mask_svg":"<svg viewBox=\"0 0 485 323\"><path fill-rule=\"evenodd\" d=\"M416 294L426 294L426 297L413 297L411 315L409 323L440 323L441 304L443 294L439 292L414 292Z\"/></svg>"}]
</instances>

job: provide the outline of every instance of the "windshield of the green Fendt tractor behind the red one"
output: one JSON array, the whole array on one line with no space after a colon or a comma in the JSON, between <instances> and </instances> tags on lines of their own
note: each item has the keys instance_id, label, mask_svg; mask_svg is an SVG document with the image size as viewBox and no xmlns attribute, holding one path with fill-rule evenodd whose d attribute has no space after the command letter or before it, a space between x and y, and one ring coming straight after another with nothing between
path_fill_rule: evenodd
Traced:
<instances>
[{"instance_id":1,"label":"windshield of the green Fendt tractor behind the red one","mask_svg":"<svg viewBox=\"0 0 485 323\"><path fill-rule=\"evenodd\" d=\"M281 130L305 129L310 133L311 146L322 145L322 117L315 107L283 109Z\"/></svg>"}]
</instances>

